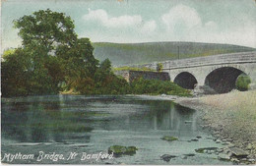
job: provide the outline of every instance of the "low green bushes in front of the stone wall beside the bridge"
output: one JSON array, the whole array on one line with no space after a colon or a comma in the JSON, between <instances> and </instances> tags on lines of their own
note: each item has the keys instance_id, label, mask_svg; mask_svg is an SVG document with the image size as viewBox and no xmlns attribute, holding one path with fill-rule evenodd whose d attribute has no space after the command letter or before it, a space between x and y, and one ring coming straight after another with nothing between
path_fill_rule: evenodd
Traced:
<instances>
[{"instance_id":1,"label":"low green bushes in front of the stone wall beside the bridge","mask_svg":"<svg viewBox=\"0 0 256 166\"><path fill-rule=\"evenodd\" d=\"M131 83L134 94L170 94L179 96L190 96L190 91L171 82L159 80L144 80L139 78Z\"/></svg>"}]
</instances>

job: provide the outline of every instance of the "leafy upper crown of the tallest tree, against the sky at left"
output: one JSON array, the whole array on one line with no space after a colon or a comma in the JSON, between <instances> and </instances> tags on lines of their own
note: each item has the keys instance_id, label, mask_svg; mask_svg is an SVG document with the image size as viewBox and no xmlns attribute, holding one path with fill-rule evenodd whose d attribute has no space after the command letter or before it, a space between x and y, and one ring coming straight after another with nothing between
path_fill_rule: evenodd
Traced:
<instances>
[{"instance_id":1,"label":"leafy upper crown of the tallest tree, against the sky at left","mask_svg":"<svg viewBox=\"0 0 256 166\"><path fill-rule=\"evenodd\" d=\"M49 9L15 20L14 25L19 28L25 47L47 54L54 54L58 46L71 47L77 39L71 18Z\"/></svg>"}]
</instances>

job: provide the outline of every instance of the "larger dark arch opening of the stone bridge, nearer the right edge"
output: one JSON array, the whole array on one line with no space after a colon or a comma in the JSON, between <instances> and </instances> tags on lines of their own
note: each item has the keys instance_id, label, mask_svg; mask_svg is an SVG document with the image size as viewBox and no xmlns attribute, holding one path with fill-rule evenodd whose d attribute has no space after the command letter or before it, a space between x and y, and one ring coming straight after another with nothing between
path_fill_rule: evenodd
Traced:
<instances>
[{"instance_id":1,"label":"larger dark arch opening of the stone bridge, nearer the right edge","mask_svg":"<svg viewBox=\"0 0 256 166\"><path fill-rule=\"evenodd\" d=\"M232 67L219 68L206 77L205 85L210 86L218 93L229 92L235 88L236 80L240 75L246 74Z\"/></svg>"}]
</instances>

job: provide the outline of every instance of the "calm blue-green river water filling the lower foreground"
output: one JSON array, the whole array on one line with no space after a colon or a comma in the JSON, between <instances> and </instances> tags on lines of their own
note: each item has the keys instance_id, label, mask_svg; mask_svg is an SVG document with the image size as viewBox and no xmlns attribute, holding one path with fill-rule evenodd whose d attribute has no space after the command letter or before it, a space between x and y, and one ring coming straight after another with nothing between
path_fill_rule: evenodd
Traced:
<instances>
[{"instance_id":1,"label":"calm blue-green river water filling the lower foreground","mask_svg":"<svg viewBox=\"0 0 256 166\"><path fill-rule=\"evenodd\" d=\"M222 147L199 128L198 113L164 100L134 96L32 96L2 99L2 158L7 153L34 154L12 163L70 164L230 164L199 147ZM179 138L168 142L163 136ZM199 141L188 141L202 137ZM136 154L84 160L83 152L107 152L110 145L134 145ZM39 151L61 153L73 160L36 161ZM193 153L195 156L185 157ZM163 154L177 157L165 162Z\"/></svg>"}]
</instances>

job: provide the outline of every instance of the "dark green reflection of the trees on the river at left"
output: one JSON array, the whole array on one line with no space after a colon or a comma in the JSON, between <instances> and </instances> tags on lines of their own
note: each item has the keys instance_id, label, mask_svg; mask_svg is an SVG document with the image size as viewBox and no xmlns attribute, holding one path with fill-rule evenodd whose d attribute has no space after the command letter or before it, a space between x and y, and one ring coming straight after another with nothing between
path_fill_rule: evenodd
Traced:
<instances>
[{"instance_id":1,"label":"dark green reflection of the trees on the river at left","mask_svg":"<svg viewBox=\"0 0 256 166\"><path fill-rule=\"evenodd\" d=\"M61 103L65 101L61 101L60 96L54 96L53 101L51 97L2 101L2 138L20 142L62 142L70 133L93 130L74 121L74 117L79 118L76 112L62 111Z\"/></svg>"}]
</instances>

